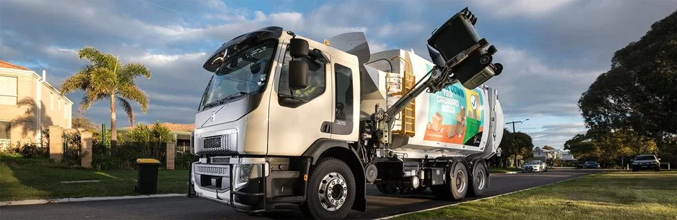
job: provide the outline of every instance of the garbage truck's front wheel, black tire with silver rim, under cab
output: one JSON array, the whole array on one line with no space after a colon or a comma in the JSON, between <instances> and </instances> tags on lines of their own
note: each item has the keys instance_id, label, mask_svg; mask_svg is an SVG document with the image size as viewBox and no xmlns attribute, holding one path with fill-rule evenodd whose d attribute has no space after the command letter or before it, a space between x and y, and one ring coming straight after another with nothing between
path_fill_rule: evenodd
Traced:
<instances>
[{"instance_id":1,"label":"garbage truck's front wheel, black tire with silver rim, under cab","mask_svg":"<svg viewBox=\"0 0 677 220\"><path fill-rule=\"evenodd\" d=\"M322 158L310 171L305 202L300 208L311 219L343 219L355 201L355 177L345 162Z\"/></svg>"}]
</instances>

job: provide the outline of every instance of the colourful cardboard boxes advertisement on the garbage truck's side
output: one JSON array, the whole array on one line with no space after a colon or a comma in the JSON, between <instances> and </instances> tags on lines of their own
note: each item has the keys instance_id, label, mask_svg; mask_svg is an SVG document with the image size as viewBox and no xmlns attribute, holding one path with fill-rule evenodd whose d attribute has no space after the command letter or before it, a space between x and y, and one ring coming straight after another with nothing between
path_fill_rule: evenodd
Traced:
<instances>
[{"instance_id":1,"label":"colourful cardboard boxes advertisement on the garbage truck's side","mask_svg":"<svg viewBox=\"0 0 677 220\"><path fill-rule=\"evenodd\" d=\"M484 129L483 104L480 89L465 89L460 83L430 94L423 140L480 146Z\"/></svg>"}]
</instances>

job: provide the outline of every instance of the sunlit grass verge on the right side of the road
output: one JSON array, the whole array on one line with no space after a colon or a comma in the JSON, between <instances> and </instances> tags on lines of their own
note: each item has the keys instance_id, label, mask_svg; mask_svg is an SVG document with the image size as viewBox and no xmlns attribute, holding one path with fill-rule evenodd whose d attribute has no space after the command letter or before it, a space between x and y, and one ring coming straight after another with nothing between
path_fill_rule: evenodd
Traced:
<instances>
[{"instance_id":1,"label":"sunlit grass verge on the right side of the road","mask_svg":"<svg viewBox=\"0 0 677 220\"><path fill-rule=\"evenodd\" d=\"M396 219L676 219L677 172L589 175Z\"/></svg>"}]
</instances>

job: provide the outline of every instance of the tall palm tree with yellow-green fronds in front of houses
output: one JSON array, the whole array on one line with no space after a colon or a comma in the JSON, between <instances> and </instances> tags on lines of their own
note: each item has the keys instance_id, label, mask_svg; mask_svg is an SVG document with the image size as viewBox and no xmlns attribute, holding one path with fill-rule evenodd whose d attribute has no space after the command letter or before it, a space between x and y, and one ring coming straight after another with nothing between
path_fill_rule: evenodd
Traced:
<instances>
[{"instance_id":1,"label":"tall palm tree with yellow-green fronds in front of houses","mask_svg":"<svg viewBox=\"0 0 677 220\"><path fill-rule=\"evenodd\" d=\"M129 124L134 124L134 111L129 100L141 106L142 113L148 110L148 97L136 85L136 77L151 78L150 70L141 63L127 63L122 65L112 54L99 52L94 47L83 47L78 51L80 60L85 58L88 65L80 67L78 72L66 78L61 84L61 94L68 94L76 90L85 92L80 101L78 114L99 100L111 102L111 149L115 152L118 133L116 132L116 101L125 110L129 117Z\"/></svg>"}]
</instances>

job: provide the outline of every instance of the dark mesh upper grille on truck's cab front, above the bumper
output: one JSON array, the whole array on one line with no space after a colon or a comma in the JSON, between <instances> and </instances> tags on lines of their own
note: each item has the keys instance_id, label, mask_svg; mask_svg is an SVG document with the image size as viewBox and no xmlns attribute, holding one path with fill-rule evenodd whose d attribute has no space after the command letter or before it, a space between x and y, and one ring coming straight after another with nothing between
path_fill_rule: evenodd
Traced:
<instances>
[{"instance_id":1,"label":"dark mesh upper grille on truck's cab front, above the bumper","mask_svg":"<svg viewBox=\"0 0 677 220\"><path fill-rule=\"evenodd\" d=\"M196 138L197 154L228 154L237 152L237 133Z\"/></svg>"}]
</instances>

